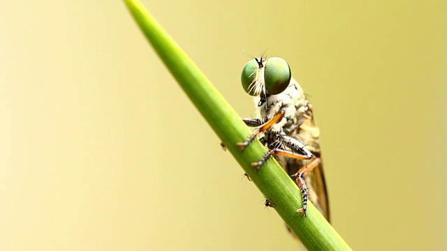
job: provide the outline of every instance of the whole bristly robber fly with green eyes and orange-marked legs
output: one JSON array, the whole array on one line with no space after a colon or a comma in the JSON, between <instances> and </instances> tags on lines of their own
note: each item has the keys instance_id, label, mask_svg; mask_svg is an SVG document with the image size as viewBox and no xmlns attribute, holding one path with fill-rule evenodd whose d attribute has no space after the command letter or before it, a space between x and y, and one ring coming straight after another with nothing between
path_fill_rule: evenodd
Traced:
<instances>
[{"instance_id":1,"label":"whole bristly robber fly with green eyes and orange-marked legs","mask_svg":"<svg viewBox=\"0 0 447 251\"><path fill-rule=\"evenodd\" d=\"M274 155L288 175L295 177L301 190L302 208L297 212L307 215L307 200L329 220L328 195L321 163L320 131L315 126L312 105L300 84L291 77L291 69L284 59L254 59L242 70L242 86L254 96L257 118L243 121L258 127L245 142L238 143L241 151L258 135L269 151L251 165L256 172ZM312 172L310 172L312 171ZM308 189L309 188L309 189Z\"/></svg>"}]
</instances>

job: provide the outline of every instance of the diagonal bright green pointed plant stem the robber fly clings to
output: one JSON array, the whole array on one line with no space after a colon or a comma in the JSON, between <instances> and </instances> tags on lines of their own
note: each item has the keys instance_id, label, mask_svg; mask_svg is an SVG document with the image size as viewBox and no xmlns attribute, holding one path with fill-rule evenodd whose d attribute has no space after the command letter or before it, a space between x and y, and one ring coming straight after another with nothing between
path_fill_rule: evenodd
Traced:
<instances>
[{"instance_id":1,"label":"diagonal bright green pointed plant stem the robber fly clings to","mask_svg":"<svg viewBox=\"0 0 447 251\"><path fill-rule=\"evenodd\" d=\"M270 158L259 172L254 172L251 163L263 157L265 147L255 140L244 153L240 152L236 143L244 142L251 130L154 17L138 1L124 2L186 95L305 247L308 250L351 250L312 204L309 204L307 218L296 212L302 207L300 190L276 160Z\"/></svg>"}]
</instances>

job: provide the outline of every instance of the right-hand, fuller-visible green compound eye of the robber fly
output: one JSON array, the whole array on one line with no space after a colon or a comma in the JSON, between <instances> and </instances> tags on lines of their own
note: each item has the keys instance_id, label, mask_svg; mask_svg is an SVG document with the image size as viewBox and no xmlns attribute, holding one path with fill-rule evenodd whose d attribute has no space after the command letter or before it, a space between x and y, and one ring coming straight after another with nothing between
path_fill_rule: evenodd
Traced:
<instances>
[{"instance_id":1,"label":"right-hand, fuller-visible green compound eye of the robber fly","mask_svg":"<svg viewBox=\"0 0 447 251\"><path fill-rule=\"evenodd\" d=\"M291 82L291 68L281 58L273 57L265 64L265 89L271 95L283 92Z\"/></svg>"}]
</instances>

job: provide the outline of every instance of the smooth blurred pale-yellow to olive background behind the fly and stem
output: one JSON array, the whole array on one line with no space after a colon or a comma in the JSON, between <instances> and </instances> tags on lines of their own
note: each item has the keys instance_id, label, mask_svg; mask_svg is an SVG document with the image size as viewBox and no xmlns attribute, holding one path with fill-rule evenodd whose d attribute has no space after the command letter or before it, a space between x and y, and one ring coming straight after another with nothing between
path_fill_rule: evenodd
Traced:
<instances>
[{"instance_id":1,"label":"smooth blurred pale-yellow to olive background behind the fly and stem","mask_svg":"<svg viewBox=\"0 0 447 251\"><path fill-rule=\"evenodd\" d=\"M240 116L288 61L351 248L447 248L445 2L142 3ZM298 247L122 1L3 1L0 101L0 250Z\"/></svg>"}]
</instances>

